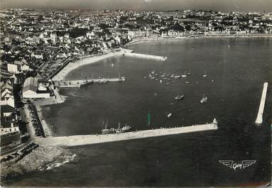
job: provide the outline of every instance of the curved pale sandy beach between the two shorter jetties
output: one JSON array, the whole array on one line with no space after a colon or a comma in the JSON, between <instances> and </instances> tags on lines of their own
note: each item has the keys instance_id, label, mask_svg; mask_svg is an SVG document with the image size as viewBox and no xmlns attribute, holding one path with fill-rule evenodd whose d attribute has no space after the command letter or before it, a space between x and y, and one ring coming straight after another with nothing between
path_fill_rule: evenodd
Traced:
<instances>
[{"instance_id":1,"label":"curved pale sandy beach between the two shorter jetties","mask_svg":"<svg viewBox=\"0 0 272 188\"><path fill-rule=\"evenodd\" d=\"M108 57L123 55L125 52L131 52L131 50L120 48L120 51L116 51L116 52L108 52L107 54L103 54L103 55L92 55L92 56L88 55L86 57L82 57L81 60L77 60L75 62L70 62L57 75L55 75L55 77L53 77L52 80L53 81L64 80L66 75L69 74L70 71L75 70L77 67L92 64L92 63L97 62L99 60L104 60Z\"/></svg>"}]
</instances>

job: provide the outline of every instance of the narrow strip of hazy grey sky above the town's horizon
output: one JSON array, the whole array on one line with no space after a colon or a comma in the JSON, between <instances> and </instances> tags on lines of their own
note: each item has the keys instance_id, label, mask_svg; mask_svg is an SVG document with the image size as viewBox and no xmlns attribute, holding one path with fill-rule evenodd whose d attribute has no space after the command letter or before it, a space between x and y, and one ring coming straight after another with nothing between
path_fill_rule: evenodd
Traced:
<instances>
[{"instance_id":1,"label":"narrow strip of hazy grey sky above the town's horizon","mask_svg":"<svg viewBox=\"0 0 272 188\"><path fill-rule=\"evenodd\" d=\"M272 12L272 0L0 0L0 8L121 9L134 11L198 9Z\"/></svg>"}]
</instances>

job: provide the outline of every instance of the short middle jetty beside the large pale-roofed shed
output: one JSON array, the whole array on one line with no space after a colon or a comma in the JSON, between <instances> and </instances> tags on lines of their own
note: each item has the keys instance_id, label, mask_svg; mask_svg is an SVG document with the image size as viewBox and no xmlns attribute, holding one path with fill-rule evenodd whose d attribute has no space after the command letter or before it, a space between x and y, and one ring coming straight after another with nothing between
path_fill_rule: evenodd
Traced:
<instances>
[{"instance_id":1,"label":"short middle jetty beside the large pale-roofed shed","mask_svg":"<svg viewBox=\"0 0 272 188\"><path fill-rule=\"evenodd\" d=\"M82 87L82 84L105 84L107 82L124 82L126 80L125 77L118 78L101 78L101 79L80 79L80 80L61 80L54 81L56 87L60 88L68 88L68 87Z\"/></svg>"}]
</instances>

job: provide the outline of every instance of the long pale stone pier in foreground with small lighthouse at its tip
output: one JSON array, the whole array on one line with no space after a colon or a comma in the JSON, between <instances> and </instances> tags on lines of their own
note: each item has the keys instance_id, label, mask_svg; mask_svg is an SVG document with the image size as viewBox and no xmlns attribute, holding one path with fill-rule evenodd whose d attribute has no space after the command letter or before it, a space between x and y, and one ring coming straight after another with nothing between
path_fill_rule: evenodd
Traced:
<instances>
[{"instance_id":1,"label":"long pale stone pier in foreground with small lighthouse at its tip","mask_svg":"<svg viewBox=\"0 0 272 188\"><path fill-rule=\"evenodd\" d=\"M60 136L48 138L36 138L36 143L41 146L76 146L91 145L98 143L109 143L121 140L133 140L139 138L151 138L157 136L169 136L182 133L192 133L198 131L217 130L217 121L214 118L212 123L195 126L183 126L177 128L158 128L146 131L133 131L127 133L115 133L106 135L81 135L81 136Z\"/></svg>"}]
</instances>

